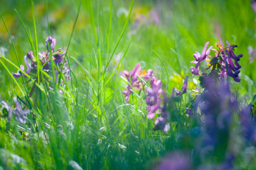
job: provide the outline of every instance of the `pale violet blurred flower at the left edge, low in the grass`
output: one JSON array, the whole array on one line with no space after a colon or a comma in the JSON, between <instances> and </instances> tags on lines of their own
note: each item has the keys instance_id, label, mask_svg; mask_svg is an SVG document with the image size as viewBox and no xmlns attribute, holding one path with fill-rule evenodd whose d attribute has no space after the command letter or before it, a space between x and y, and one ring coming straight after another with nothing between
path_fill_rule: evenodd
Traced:
<instances>
[{"instance_id":1,"label":"pale violet blurred flower at the left edge, low in the grass","mask_svg":"<svg viewBox=\"0 0 256 170\"><path fill-rule=\"evenodd\" d=\"M18 120L20 124L26 124L26 116L28 113L30 113L30 110L23 111L17 97L13 97L13 100L14 100L16 109L11 108L6 101L1 102L2 108L5 108L7 110L9 120L13 118L13 112L14 112L16 120Z\"/></svg>"}]
</instances>

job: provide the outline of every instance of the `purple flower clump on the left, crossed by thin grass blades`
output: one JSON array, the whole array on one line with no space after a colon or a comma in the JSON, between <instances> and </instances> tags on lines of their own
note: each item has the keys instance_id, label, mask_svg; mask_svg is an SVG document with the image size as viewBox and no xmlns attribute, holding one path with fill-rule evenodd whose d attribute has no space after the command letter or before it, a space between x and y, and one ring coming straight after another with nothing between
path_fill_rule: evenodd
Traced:
<instances>
[{"instance_id":1,"label":"purple flower clump on the left, crossed by thin grass blades","mask_svg":"<svg viewBox=\"0 0 256 170\"><path fill-rule=\"evenodd\" d=\"M67 67L68 65L67 59L65 59L63 63L67 48L63 47L55 51L54 49L55 45L56 45L56 40L53 39L51 36L47 37L46 39L47 50L42 53L40 52L38 53L39 54L38 62L36 61L36 57L33 55L33 52L32 51L28 52L27 55L24 56L24 62L26 63L26 67L27 67L25 73L30 75L32 78L39 79L38 75L36 74L38 73L37 64L39 63L42 66L42 70L46 71L50 75L52 75L52 67L54 68L53 70L55 70L57 83L58 83L57 75L60 74L61 67L63 67L62 72L64 77L67 78L67 80L69 80L70 70ZM51 65L50 57L52 57L52 60L55 62L56 67ZM28 62L28 59L30 59L31 62ZM20 65L20 69L24 71L25 67L23 65ZM14 78L19 78L20 76L27 78L27 76L24 75L20 70L18 70L18 73L14 73L13 76ZM64 86L64 83L60 85Z\"/></svg>"}]
</instances>

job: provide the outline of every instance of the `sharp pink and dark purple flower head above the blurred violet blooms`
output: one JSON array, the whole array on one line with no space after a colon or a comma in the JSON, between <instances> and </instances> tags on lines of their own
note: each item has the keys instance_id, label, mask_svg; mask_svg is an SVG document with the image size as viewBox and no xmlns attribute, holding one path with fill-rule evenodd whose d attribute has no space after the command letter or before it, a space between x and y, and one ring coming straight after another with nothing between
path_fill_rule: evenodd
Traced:
<instances>
[{"instance_id":1,"label":"sharp pink and dark purple flower head above the blurred violet blooms","mask_svg":"<svg viewBox=\"0 0 256 170\"><path fill-rule=\"evenodd\" d=\"M241 79L238 74L240 73L241 65L238 63L238 61L240 61L240 58L243 55L239 54L238 56L236 56L236 54L234 54L234 48L236 48L237 45L230 45L229 42L226 41L226 44L228 44L228 46L224 48L220 39L220 42L216 43L216 46L219 49L214 49L215 56L209 56L210 50L212 50L212 46L207 49L208 44L209 42L205 44L203 52L201 54L198 52L193 54L195 60L192 61L192 63L195 63L196 66L191 66L191 73L193 73L194 75L200 75L199 66L201 62L206 60L207 65L209 66L206 70L210 69L211 73L218 73L220 79L222 80L225 78L225 76L230 76L234 79L235 82L240 82ZM209 59L209 57L212 59Z\"/></svg>"}]
</instances>

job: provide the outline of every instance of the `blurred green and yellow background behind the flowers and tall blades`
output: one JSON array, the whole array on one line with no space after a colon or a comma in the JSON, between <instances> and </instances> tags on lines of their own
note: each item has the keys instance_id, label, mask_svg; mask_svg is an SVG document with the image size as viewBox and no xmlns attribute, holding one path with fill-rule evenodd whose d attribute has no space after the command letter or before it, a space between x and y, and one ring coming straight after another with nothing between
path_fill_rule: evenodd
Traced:
<instances>
[{"instance_id":1,"label":"blurred green and yellow background behind the flowers and tall blades","mask_svg":"<svg viewBox=\"0 0 256 170\"><path fill-rule=\"evenodd\" d=\"M35 1L35 19L39 42L39 50L44 51L44 41L48 35L47 2ZM106 56L109 32L109 1L93 1L93 14L96 23L102 57ZM112 36L110 53L122 32L131 1L113 1ZM49 1L48 19L50 35L56 39L56 47L67 46L71 36L73 24L78 12L79 1ZM32 19L31 1L5 1L1 0L0 11L5 19L7 28L14 41L20 61L31 50L22 23L16 14L16 9L23 20L25 27L31 32L34 40L34 26ZM144 69L158 70L159 78L166 78L162 63L153 52L163 59L168 71L192 75L189 67L193 54L201 53L205 42L210 45L219 41L229 41L238 45L236 54L243 54L241 59L242 82L234 83L236 90L246 96L255 91L256 72L255 60L255 28L256 28L255 3L247 1L135 1L128 27L115 51L116 57L113 65L118 62L118 53L123 53L126 43L131 41L126 57L122 62L121 70L134 67L137 62L142 63ZM0 53L18 65L15 60L14 50L10 43L5 25L0 20ZM96 49L93 29L90 21L88 3L82 1L79 19L71 40L69 55L75 57L85 67L92 61L93 50ZM214 54L214 52L213 52ZM116 60L116 61L115 61ZM76 72L77 79L84 76L77 64L72 62L72 71ZM24 64L24 63L23 63ZM94 62L96 67L96 63ZM7 64L7 66L9 66ZM15 70L10 66L10 70ZM0 66L1 82L9 83L10 76ZM80 74L81 73L81 74ZM97 76L97 69L92 75ZM171 77L170 77L171 79ZM80 84L84 86L83 83ZM6 96L11 86L2 87L0 95ZM7 95L8 96L8 95ZM249 96L250 98L250 96Z\"/></svg>"}]
</instances>

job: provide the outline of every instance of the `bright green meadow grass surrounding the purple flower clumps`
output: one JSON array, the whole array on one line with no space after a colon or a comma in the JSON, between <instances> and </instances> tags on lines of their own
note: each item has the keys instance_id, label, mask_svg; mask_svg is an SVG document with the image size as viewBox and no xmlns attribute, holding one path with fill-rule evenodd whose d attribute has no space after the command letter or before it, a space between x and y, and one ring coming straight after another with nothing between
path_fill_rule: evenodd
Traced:
<instances>
[{"instance_id":1,"label":"bright green meadow grass surrounding the purple flower clumps","mask_svg":"<svg viewBox=\"0 0 256 170\"><path fill-rule=\"evenodd\" d=\"M232 82L232 91L243 104L253 99L255 61L249 62L247 47L256 45L256 15L250 1L1 3L6 27L1 20L0 46L8 50L0 57L0 99L13 105L13 97L18 96L31 112L27 124L1 118L0 169L152 169L168 152L192 150L195 141L190 144L180 135L196 126L194 118L180 114L184 108L177 109L172 111L167 133L154 131L154 123L146 117L146 96L135 91L125 102L122 90L127 82L122 71L131 71L141 62L142 69L155 71L167 94L172 87L181 88L185 75L189 75L188 88L194 88L199 81L189 69L193 53L207 41L214 45L220 37L237 44L236 53L243 54L242 81ZM118 17L121 7L125 12ZM148 15L150 10L158 12L159 23L141 21L135 27L138 15ZM28 51L46 49L49 35L56 39L57 48L68 48L65 57L71 80L65 82L63 93L59 92L61 75L59 84L52 78L54 90L40 79L11 75L19 69L15 65L24 65ZM121 60L118 53L124 54ZM190 100L188 92L183 102Z\"/></svg>"}]
</instances>

